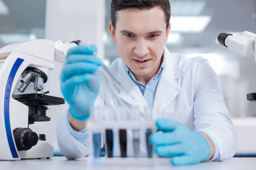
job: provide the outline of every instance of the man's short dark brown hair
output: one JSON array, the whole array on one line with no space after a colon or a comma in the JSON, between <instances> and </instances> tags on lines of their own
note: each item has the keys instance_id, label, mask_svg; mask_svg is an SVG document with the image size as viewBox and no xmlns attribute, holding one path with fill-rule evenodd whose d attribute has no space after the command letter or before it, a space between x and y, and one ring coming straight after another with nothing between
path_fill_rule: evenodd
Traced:
<instances>
[{"instance_id":1,"label":"man's short dark brown hair","mask_svg":"<svg viewBox=\"0 0 256 170\"><path fill-rule=\"evenodd\" d=\"M112 0L111 2L111 23L116 29L117 12L125 8L152 8L160 6L165 13L166 29L169 26L171 17L171 6L169 0Z\"/></svg>"}]
</instances>

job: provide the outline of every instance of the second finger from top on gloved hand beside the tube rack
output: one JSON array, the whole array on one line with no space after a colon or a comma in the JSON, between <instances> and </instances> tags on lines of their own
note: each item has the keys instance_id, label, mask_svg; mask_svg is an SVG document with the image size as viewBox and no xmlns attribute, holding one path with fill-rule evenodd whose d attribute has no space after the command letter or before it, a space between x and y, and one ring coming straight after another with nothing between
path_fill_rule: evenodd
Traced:
<instances>
[{"instance_id":1,"label":"second finger from top on gloved hand beside the tube rack","mask_svg":"<svg viewBox=\"0 0 256 170\"><path fill-rule=\"evenodd\" d=\"M150 136L152 144L175 144L182 142L183 136L177 132L153 133Z\"/></svg>"}]
</instances>

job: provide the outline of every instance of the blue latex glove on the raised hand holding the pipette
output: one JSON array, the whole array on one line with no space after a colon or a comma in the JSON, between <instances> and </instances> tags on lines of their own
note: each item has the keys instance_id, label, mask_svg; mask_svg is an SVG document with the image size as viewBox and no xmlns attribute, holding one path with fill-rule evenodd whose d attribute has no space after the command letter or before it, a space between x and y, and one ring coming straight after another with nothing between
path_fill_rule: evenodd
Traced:
<instances>
[{"instance_id":1,"label":"blue latex glove on the raised hand holding the pipette","mask_svg":"<svg viewBox=\"0 0 256 170\"><path fill-rule=\"evenodd\" d=\"M90 106L99 92L97 68L102 61L94 52L94 45L71 48L61 71L62 94L70 105L70 115L80 121L90 116Z\"/></svg>"}]
</instances>

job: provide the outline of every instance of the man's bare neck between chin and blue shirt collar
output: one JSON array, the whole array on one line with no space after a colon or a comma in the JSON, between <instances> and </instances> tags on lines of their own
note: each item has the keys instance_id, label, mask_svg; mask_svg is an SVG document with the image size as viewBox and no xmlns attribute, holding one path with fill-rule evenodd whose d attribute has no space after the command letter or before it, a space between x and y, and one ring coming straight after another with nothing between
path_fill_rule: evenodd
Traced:
<instances>
[{"instance_id":1,"label":"man's bare neck between chin and blue shirt collar","mask_svg":"<svg viewBox=\"0 0 256 170\"><path fill-rule=\"evenodd\" d=\"M161 57L161 59L159 60L159 62L157 63L157 65L154 67L154 69L145 76L140 76L140 75L136 75L132 72L132 74L134 75L135 79L141 83L143 83L143 85L147 85L148 82L151 80L151 78L157 74L158 70L160 69L161 65L163 62L163 55Z\"/></svg>"}]
</instances>

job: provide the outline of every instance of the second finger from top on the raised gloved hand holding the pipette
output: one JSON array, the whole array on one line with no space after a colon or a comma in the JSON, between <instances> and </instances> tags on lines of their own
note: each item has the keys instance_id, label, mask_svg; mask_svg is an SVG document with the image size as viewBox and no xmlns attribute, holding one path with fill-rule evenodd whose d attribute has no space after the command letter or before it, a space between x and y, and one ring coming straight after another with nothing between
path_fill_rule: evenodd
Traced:
<instances>
[{"instance_id":1,"label":"second finger from top on the raised gloved hand holding the pipette","mask_svg":"<svg viewBox=\"0 0 256 170\"><path fill-rule=\"evenodd\" d=\"M84 54L70 54L70 56L68 58L66 58L65 63L70 64L73 62L92 62L97 65L103 64L101 59L99 59L93 55L84 55Z\"/></svg>"}]
</instances>

